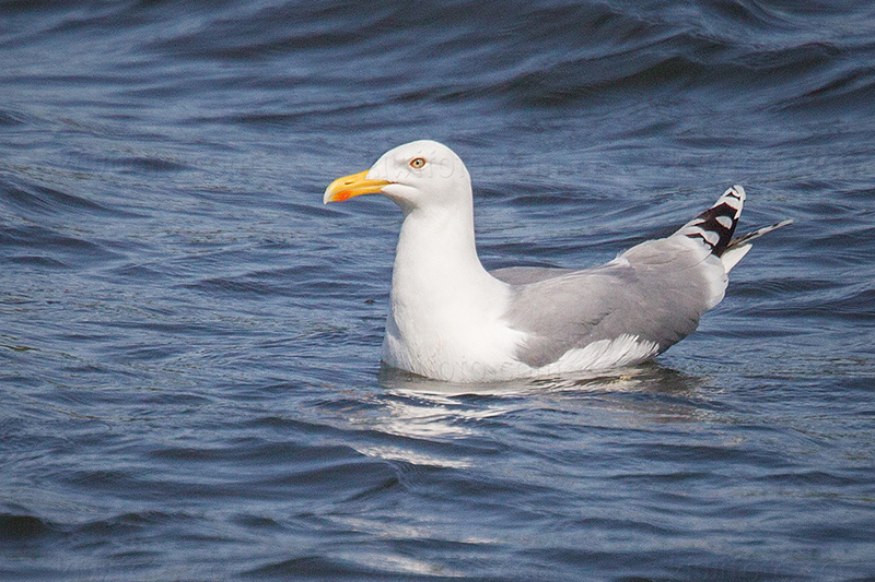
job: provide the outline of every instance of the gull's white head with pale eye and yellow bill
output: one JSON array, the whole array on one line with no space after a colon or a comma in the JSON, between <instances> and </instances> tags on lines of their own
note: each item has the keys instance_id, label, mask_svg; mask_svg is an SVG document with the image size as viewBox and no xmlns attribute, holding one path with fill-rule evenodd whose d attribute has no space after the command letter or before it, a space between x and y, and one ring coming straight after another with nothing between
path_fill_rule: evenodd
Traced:
<instances>
[{"instance_id":1,"label":"gull's white head with pale eye and yellow bill","mask_svg":"<svg viewBox=\"0 0 875 582\"><path fill-rule=\"evenodd\" d=\"M417 209L470 205L471 180L450 147L421 140L389 150L369 170L335 180L323 202L361 194L383 194L408 214Z\"/></svg>"}]
</instances>

